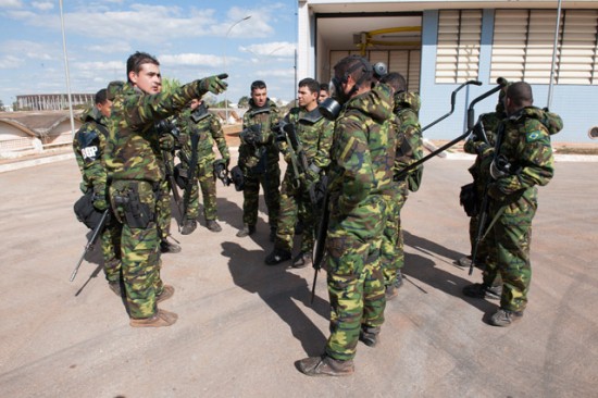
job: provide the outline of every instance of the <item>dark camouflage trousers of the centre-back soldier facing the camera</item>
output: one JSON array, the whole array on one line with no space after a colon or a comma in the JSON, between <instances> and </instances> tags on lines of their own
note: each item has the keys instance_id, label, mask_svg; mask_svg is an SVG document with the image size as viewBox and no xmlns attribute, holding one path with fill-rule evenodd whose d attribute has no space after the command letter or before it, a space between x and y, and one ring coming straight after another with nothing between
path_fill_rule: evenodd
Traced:
<instances>
[{"instance_id":1,"label":"dark camouflage trousers of the centre-back soldier facing the camera","mask_svg":"<svg viewBox=\"0 0 598 398\"><path fill-rule=\"evenodd\" d=\"M281 169L278 163L269 166L265 173L251 173L251 170L244 173L245 187L242 189L242 222L247 225L258 223L258 209L260 199L260 185L264 191L265 204L267 207L267 219L271 228L276 228L278 212L281 209Z\"/></svg>"}]
</instances>

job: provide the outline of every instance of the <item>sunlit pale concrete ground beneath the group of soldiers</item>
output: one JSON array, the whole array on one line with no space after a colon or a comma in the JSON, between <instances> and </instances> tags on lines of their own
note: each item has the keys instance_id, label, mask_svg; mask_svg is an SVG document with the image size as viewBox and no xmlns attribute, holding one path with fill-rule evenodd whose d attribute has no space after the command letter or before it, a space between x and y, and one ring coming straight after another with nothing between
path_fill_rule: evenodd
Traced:
<instances>
[{"instance_id":1,"label":"sunlit pale concrete ground beneath the group of soldiers","mask_svg":"<svg viewBox=\"0 0 598 398\"><path fill-rule=\"evenodd\" d=\"M325 274L265 266L266 216L237 238L241 195L219 183L223 232L174 236L163 257L176 288L171 327L132 328L95 251L68 277L87 229L73 214L73 159L0 174L0 397L589 397L598 389L596 164L557 162L534 220L534 278L523 320L486 322L496 302L464 298L481 273L468 253L459 188L468 160L426 163L403 211L408 282L382 341L358 346L356 373L311 378L295 362L328 336ZM263 209L262 209L263 210ZM202 221L203 225L203 221Z\"/></svg>"}]
</instances>

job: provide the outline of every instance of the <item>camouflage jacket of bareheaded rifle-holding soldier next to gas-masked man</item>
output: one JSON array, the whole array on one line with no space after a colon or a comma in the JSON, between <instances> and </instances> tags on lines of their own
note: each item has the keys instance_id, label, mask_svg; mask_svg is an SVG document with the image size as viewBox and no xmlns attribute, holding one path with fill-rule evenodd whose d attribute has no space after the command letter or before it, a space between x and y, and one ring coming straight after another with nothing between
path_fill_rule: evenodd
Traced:
<instances>
[{"instance_id":1,"label":"camouflage jacket of bareheaded rifle-holding soldier next to gas-masked man","mask_svg":"<svg viewBox=\"0 0 598 398\"><path fill-rule=\"evenodd\" d=\"M285 116L285 122L292 123L296 127L297 138L308 159L308 163L326 170L331 164L331 146L333 145L334 123L324 117L314 109L307 112L303 108L292 108ZM287 157L288 145L279 144L281 152ZM287 174L291 167L287 167Z\"/></svg>"}]
</instances>

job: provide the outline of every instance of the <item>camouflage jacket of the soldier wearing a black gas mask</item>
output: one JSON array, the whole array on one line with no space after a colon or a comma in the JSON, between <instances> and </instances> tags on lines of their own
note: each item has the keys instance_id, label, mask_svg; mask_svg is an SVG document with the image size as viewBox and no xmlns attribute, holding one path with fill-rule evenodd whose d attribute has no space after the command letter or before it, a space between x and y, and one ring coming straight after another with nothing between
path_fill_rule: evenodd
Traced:
<instances>
[{"instance_id":1,"label":"camouflage jacket of the soldier wearing a black gas mask","mask_svg":"<svg viewBox=\"0 0 598 398\"><path fill-rule=\"evenodd\" d=\"M351 98L336 120L331 149L331 214L348 214L393 186L396 133L390 88L377 85Z\"/></svg>"}]
</instances>

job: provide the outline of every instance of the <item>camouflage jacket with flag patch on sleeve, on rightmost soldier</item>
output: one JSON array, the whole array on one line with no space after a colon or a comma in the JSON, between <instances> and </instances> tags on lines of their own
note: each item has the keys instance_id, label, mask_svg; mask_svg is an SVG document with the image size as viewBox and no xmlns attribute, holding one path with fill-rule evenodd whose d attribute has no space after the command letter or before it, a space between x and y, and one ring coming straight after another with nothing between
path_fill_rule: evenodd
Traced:
<instances>
[{"instance_id":1,"label":"camouflage jacket with flag patch on sleeve, on rightmost soldier","mask_svg":"<svg viewBox=\"0 0 598 398\"><path fill-rule=\"evenodd\" d=\"M503 124L498 156L504 157L515 172L499 178L498 189L512 195L548 184L555 173L550 135L562 128L562 120L555 113L527 107Z\"/></svg>"}]
</instances>

